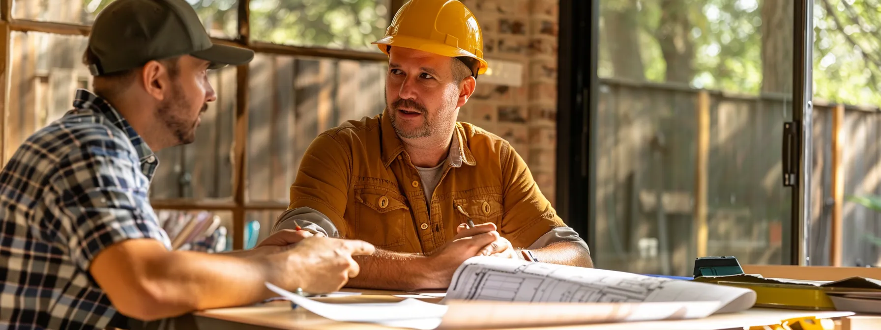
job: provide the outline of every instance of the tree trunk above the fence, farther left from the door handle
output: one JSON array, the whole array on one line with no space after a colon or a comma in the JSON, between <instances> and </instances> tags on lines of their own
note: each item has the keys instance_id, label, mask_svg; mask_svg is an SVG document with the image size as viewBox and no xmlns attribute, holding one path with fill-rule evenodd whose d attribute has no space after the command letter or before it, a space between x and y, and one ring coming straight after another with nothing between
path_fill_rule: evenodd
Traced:
<instances>
[{"instance_id":1,"label":"tree trunk above the fence, farther left from the door handle","mask_svg":"<svg viewBox=\"0 0 881 330\"><path fill-rule=\"evenodd\" d=\"M692 82L694 41L691 32L692 23L688 20L685 0L662 0L661 24L655 31L655 39L661 45L664 62L667 62L665 75L668 82Z\"/></svg>"}]
</instances>

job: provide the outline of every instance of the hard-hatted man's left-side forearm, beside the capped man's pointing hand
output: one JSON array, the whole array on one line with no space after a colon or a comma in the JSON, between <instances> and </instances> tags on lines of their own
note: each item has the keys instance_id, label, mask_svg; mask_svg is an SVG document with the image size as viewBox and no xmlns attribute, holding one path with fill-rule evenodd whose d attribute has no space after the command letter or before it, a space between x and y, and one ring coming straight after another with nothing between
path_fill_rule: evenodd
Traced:
<instances>
[{"instance_id":1,"label":"hard-hatted man's left-side forearm, beside the capped man's pointing hand","mask_svg":"<svg viewBox=\"0 0 881 330\"><path fill-rule=\"evenodd\" d=\"M396 253L376 249L369 256L355 257L361 270L346 284L348 288L376 290L419 290L437 286L429 271L428 257L417 253Z\"/></svg>"}]
</instances>

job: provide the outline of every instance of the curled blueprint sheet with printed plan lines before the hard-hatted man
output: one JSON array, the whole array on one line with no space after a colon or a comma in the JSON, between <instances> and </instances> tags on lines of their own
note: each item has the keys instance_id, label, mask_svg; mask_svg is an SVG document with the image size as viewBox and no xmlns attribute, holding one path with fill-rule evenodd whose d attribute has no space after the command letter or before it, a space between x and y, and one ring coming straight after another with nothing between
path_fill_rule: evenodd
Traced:
<instances>
[{"instance_id":1,"label":"curled blueprint sheet with printed plan lines before the hard-hatted man","mask_svg":"<svg viewBox=\"0 0 881 330\"><path fill-rule=\"evenodd\" d=\"M708 313L704 308L687 310L685 319L693 319L714 312L749 309L755 304L756 293L704 282L481 256L466 260L456 269L443 302L454 299L532 303L721 303Z\"/></svg>"}]
</instances>

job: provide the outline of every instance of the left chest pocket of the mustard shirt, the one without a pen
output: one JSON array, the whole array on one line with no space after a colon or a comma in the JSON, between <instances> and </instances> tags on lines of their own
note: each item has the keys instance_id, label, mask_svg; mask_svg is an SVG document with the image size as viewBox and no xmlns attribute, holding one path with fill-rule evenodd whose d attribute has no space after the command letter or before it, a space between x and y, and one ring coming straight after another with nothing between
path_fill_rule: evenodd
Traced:
<instances>
[{"instance_id":1,"label":"left chest pocket of the mustard shirt, the one without a pen","mask_svg":"<svg viewBox=\"0 0 881 330\"><path fill-rule=\"evenodd\" d=\"M412 224L410 207L401 194L382 189L355 190L358 239L378 247L403 246L407 224Z\"/></svg>"}]
</instances>

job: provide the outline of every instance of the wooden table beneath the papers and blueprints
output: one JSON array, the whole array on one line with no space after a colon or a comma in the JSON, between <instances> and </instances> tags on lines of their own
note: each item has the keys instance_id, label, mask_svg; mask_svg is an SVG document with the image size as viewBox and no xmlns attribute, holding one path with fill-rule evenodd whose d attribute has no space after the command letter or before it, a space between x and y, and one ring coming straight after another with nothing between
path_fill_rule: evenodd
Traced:
<instances>
[{"instance_id":1,"label":"wooden table beneath the papers and blueprints","mask_svg":"<svg viewBox=\"0 0 881 330\"><path fill-rule=\"evenodd\" d=\"M351 291L351 290L350 290ZM397 291L359 290L359 296L350 297L326 297L316 298L324 302L351 304L351 303L379 303L401 301L403 297L395 295L407 295L411 293ZM428 302L439 302L437 297L425 296L420 298ZM780 309L754 308L749 311L733 314L714 315L706 319L687 319L653 322L629 322L603 325L577 325L577 326L551 326L551 327L522 327L522 330L537 329L676 329L676 330L721 330L743 329L744 326L765 326L779 323L781 319L816 316L818 318L839 318L852 315L851 312L811 312L792 311ZM253 306L222 308L196 312L192 314L199 329L285 329L285 330L312 330L312 329L390 329L385 326L376 326L363 323L337 322L325 319L315 313L302 308L292 309L288 301L275 301L267 304Z\"/></svg>"}]
</instances>

